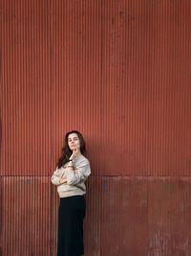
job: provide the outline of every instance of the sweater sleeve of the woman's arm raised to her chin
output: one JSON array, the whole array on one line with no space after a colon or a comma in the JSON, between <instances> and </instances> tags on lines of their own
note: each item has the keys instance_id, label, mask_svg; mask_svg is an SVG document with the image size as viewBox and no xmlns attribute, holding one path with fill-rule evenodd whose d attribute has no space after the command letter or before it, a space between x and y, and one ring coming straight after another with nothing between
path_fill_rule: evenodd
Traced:
<instances>
[{"instance_id":1,"label":"sweater sleeve of the woman's arm raised to her chin","mask_svg":"<svg viewBox=\"0 0 191 256\"><path fill-rule=\"evenodd\" d=\"M67 177L67 184L76 185L82 181L85 181L90 174L91 169L89 161L83 161L75 170L71 170L70 168L66 169L65 175Z\"/></svg>"}]
</instances>

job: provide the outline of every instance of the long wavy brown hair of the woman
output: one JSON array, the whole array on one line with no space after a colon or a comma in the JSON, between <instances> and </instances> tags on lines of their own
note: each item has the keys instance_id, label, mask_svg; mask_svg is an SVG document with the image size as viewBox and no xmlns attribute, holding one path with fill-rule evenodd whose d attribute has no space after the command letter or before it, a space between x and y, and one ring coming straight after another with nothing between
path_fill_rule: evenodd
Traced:
<instances>
[{"instance_id":1,"label":"long wavy brown hair of the woman","mask_svg":"<svg viewBox=\"0 0 191 256\"><path fill-rule=\"evenodd\" d=\"M85 145L85 141L84 141L84 138L81 135L81 133L78 130L68 131L64 137L64 146L62 147L61 156L57 160L58 168L61 168L62 166L64 166L69 161L69 158L71 157L71 155L73 153L73 151L71 151L71 149L69 148L69 145L68 145L68 137L72 133L77 134L79 141L80 141L80 151L83 155L86 155L86 145Z\"/></svg>"}]
</instances>

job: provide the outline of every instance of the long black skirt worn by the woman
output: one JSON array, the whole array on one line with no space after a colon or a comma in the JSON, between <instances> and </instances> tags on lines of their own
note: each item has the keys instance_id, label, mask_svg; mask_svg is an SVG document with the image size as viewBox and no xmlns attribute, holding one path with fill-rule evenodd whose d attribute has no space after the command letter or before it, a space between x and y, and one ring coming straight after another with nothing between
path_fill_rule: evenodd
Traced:
<instances>
[{"instance_id":1,"label":"long black skirt worn by the woman","mask_svg":"<svg viewBox=\"0 0 191 256\"><path fill-rule=\"evenodd\" d=\"M58 211L57 256L84 254L83 219L86 213L84 196L60 198Z\"/></svg>"}]
</instances>

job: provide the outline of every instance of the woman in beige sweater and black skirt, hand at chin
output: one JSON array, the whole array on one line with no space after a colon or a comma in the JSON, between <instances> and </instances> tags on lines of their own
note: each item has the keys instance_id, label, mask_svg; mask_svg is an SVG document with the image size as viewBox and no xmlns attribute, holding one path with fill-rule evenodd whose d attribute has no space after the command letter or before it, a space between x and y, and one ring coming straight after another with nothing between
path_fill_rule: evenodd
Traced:
<instances>
[{"instance_id":1,"label":"woman in beige sweater and black skirt, hand at chin","mask_svg":"<svg viewBox=\"0 0 191 256\"><path fill-rule=\"evenodd\" d=\"M84 254L83 219L86 212L85 181L91 174L81 133L66 133L62 154L52 176L60 198L58 211L57 256Z\"/></svg>"}]
</instances>

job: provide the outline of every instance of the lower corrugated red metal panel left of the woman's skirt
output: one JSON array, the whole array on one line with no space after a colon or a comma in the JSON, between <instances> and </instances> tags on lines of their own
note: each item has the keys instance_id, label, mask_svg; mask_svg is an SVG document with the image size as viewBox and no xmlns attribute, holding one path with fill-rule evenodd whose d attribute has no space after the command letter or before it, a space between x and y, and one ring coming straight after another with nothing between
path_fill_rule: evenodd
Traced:
<instances>
[{"instance_id":1,"label":"lower corrugated red metal panel left of the woman's skirt","mask_svg":"<svg viewBox=\"0 0 191 256\"><path fill-rule=\"evenodd\" d=\"M49 177L3 177L2 255L51 256L50 198Z\"/></svg>"}]
</instances>

